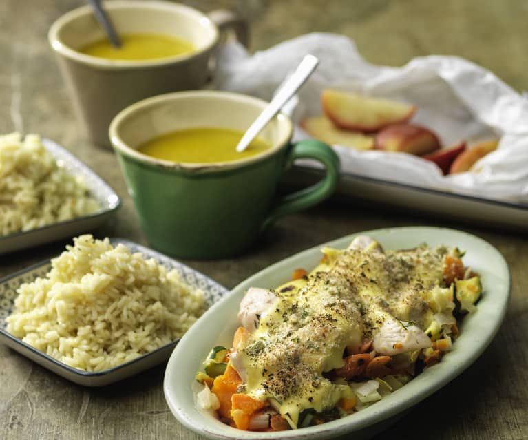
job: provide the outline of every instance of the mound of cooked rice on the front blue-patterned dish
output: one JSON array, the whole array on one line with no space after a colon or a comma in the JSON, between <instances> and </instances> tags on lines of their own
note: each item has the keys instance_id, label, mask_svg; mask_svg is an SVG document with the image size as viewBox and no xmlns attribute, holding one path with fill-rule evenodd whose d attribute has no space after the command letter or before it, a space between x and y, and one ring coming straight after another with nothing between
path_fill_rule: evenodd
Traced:
<instances>
[{"instance_id":1,"label":"mound of cooked rice on the front blue-patterned dish","mask_svg":"<svg viewBox=\"0 0 528 440\"><path fill-rule=\"evenodd\" d=\"M187 331L204 295L123 244L74 238L44 278L18 289L7 330L74 368L101 371Z\"/></svg>"}]
</instances>

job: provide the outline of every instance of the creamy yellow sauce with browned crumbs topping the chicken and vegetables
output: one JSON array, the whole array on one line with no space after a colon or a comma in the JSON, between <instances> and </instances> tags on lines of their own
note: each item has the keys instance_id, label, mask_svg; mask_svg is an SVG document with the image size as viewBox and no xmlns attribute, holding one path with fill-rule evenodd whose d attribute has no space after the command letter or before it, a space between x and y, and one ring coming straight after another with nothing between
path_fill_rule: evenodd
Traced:
<instances>
[{"instance_id":1,"label":"creamy yellow sauce with browned crumbs topping the chicken and vegetables","mask_svg":"<svg viewBox=\"0 0 528 440\"><path fill-rule=\"evenodd\" d=\"M290 290L288 284L277 289L271 311L240 350L245 392L278 401L293 426L302 411L324 412L350 397L349 386L334 384L323 373L342 367L347 346L354 350L370 339L387 315L404 322L430 316L421 297L440 284L441 259L428 248L344 251L331 270L312 273L302 289Z\"/></svg>"}]
</instances>

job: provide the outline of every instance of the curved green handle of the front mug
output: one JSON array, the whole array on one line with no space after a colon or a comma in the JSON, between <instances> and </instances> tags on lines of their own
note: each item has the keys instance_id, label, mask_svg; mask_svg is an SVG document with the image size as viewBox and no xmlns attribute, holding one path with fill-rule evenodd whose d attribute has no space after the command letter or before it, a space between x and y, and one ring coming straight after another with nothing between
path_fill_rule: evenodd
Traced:
<instances>
[{"instance_id":1,"label":"curved green handle of the front mug","mask_svg":"<svg viewBox=\"0 0 528 440\"><path fill-rule=\"evenodd\" d=\"M271 213L264 219L261 232L278 218L286 216L286 214L317 205L317 203L328 198L335 190L335 187L337 187L341 163L331 147L315 139L301 140L291 148L288 158L286 158L285 171L291 167L295 159L317 160L326 168L325 175L315 185L300 189L281 198Z\"/></svg>"}]
</instances>

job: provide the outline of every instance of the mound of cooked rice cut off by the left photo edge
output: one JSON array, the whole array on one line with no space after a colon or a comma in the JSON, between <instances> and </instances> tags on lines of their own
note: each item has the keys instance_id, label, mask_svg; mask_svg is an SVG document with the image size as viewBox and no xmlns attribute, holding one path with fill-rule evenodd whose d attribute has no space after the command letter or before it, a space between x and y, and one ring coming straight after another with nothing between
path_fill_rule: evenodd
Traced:
<instances>
[{"instance_id":1,"label":"mound of cooked rice cut off by the left photo edge","mask_svg":"<svg viewBox=\"0 0 528 440\"><path fill-rule=\"evenodd\" d=\"M95 212L83 182L59 167L40 136L0 136L0 235Z\"/></svg>"}]
</instances>

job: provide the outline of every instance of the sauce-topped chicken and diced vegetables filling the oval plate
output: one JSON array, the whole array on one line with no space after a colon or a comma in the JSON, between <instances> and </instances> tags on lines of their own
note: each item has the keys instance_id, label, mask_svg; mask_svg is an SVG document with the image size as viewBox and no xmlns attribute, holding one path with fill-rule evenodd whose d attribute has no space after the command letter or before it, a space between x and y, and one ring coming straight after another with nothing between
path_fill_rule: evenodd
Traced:
<instances>
[{"instance_id":1,"label":"sauce-topped chicken and diced vegetables filling the oval plate","mask_svg":"<svg viewBox=\"0 0 528 440\"><path fill-rule=\"evenodd\" d=\"M199 408L264 431L352 414L441 361L481 296L457 248L383 251L359 236L323 253L310 273L246 291L233 346L196 375Z\"/></svg>"}]
</instances>

